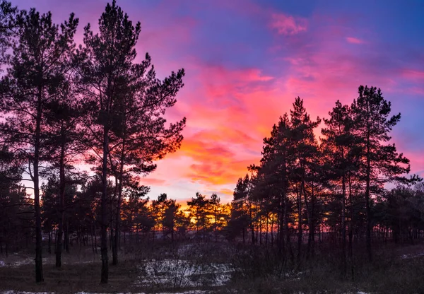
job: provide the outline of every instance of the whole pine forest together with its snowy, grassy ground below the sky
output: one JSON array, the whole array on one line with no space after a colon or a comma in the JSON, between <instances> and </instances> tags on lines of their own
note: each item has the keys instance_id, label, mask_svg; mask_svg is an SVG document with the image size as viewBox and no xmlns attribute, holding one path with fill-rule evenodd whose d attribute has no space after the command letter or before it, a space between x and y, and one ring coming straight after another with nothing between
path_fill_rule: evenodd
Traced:
<instances>
[{"instance_id":1,"label":"whole pine forest together with its snowy, grassy ground below the sky","mask_svg":"<svg viewBox=\"0 0 424 294\"><path fill-rule=\"evenodd\" d=\"M424 184L382 90L316 119L295 98L230 203L149 199L141 178L190 123L167 120L184 69L158 78L115 0L81 44L78 25L0 2L0 291L424 290Z\"/></svg>"}]
</instances>

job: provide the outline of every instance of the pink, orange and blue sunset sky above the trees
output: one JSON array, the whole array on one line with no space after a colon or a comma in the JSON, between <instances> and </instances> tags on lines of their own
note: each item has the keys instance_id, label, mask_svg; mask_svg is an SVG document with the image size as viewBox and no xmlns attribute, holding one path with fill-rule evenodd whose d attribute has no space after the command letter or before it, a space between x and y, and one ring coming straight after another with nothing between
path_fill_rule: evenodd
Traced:
<instances>
[{"instance_id":1,"label":"pink, orange and blue sunset sky above the trees","mask_svg":"<svg viewBox=\"0 0 424 294\"><path fill-rule=\"evenodd\" d=\"M107 1L13 0L19 8L74 12L97 28ZM424 1L129 1L141 21L140 59L158 76L184 68L184 88L167 113L187 117L182 148L143 180L149 196L184 201L196 192L232 199L262 139L295 97L312 117L336 100L351 103L360 84L382 88L402 118L393 139L412 172L424 176Z\"/></svg>"}]
</instances>

